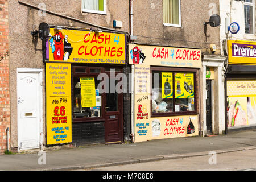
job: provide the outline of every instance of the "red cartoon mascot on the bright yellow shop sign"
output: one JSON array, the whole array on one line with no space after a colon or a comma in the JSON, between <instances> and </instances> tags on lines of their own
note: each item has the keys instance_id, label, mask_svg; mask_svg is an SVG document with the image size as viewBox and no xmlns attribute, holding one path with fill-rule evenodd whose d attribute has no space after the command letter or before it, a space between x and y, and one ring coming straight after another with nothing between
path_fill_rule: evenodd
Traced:
<instances>
[{"instance_id":1,"label":"red cartoon mascot on the bright yellow shop sign","mask_svg":"<svg viewBox=\"0 0 256 182\"><path fill-rule=\"evenodd\" d=\"M49 41L54 60L67 61L73 51L71 44L68 42L68 36L63 36L62 32L57 32L54 36L51 36Z\"/></svg>"}]
</instances>

